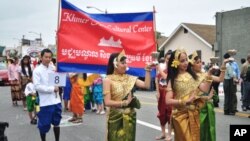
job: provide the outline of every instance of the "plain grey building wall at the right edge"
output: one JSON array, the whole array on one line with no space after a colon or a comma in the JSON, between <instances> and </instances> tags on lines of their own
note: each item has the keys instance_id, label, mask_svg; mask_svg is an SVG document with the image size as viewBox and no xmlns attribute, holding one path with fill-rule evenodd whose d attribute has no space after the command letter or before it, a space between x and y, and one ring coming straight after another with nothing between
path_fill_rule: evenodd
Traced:
<instances>
[{"instance_id":1,"label":"plain grey building wall at the right edge","mask_svg":"<svg viewBox=\"0 0 250 141\"><path fill-rule=\"evenodd\" d=\"M238 63L250 53L250 7L216 13L215 54L222 59L229 49Z\"/></svg>"}]
</instances>

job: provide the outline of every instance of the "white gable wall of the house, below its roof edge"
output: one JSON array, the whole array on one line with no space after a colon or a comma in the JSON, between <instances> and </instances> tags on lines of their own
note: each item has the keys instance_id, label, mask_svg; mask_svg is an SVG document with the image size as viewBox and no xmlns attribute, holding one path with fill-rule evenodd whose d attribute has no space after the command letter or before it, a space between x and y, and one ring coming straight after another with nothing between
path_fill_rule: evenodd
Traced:
<instances>
[{"instance_id":1,"label":"white gable wall of the house, below its roof edge","mask_svg":"<svg viewBox=\"0 0 250 141\"><path fill-rule=\"evenodd\" d=\"M212 51L212 48L204 44L192 33L188 31L188 33L184 34L183 28L177 31L177 33L175 33L175 36L172 37L171 40L168 41L167 45L165 45L164 47L165 52L167 52L169 49L185 49L188 55L190 55L196 50L201 50L201 59L205 63L210 62L209 58L215 55L215 53Z\"/></svg>"}]
</instances>

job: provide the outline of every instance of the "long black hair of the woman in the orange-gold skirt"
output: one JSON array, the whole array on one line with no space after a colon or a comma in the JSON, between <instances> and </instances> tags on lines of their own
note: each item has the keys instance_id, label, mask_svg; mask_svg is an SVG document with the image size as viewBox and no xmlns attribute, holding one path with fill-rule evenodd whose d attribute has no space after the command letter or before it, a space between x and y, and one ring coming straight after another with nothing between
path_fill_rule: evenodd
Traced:
<instances>
[{"instance_id":1,"label":"long black hair of the woman in the orange-gold skirt","mask_svg":"<svg viewBox=\"0 0 250 141\"><path fill-rule=\"evenodd\" d=\"M173 62L174 59L175 59L175 52L176 52L176 50L175 50L174 52L172 52L172 54L171 54L171 56L170 56L170 58L169 58L169 61L168 61L168 77L167 77L167 82L168 82L168 81L171 81L172 89L173 89L173 90L175 90L175 89L174 89L174 85L175 85L175 84L174 84L174 81L175 81L175 79L176 79L177 76L178 76L178 68L171 67L172 62ZM179 56L178 56L178 59L179 59L179 58L180 58L180 54L179 54ZM187 67L187 72L193 77L193 79L196 80L196 79L198 78L198 76L196 75L196 73L192 71L190 65L188 65L188 67Z\"/></svg>"}]
</instances>

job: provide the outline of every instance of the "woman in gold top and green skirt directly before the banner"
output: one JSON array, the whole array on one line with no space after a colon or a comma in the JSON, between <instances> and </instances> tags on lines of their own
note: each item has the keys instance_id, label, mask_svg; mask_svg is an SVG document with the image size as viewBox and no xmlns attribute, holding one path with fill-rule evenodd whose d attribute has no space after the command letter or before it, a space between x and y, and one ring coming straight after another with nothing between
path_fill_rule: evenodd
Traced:
<instances>
[{"instance_id":1,"label":"woman in gold top and green skirt directly before the banner","mask_svg":"<svg viewBox=\"0 0 250 141\"><path fill-rule=\"evenodd\" d=\"M108 141L135 141L136 111L140 103L132 94L134 86L150 87L151 68L145 68L145 82L126 74L127 63L124 51L111 54L107 77L103 81L104 101L109 107L107 114Z\"/></svg>"}]
</instances>

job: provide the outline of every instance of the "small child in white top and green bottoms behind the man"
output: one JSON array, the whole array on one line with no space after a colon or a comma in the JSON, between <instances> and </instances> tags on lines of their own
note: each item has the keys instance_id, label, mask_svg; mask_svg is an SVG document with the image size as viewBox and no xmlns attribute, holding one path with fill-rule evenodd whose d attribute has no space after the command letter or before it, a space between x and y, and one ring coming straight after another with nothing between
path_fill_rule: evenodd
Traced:
<instances>
[{"instance_id":1,"label":"small child in white top and green bottoms behind the man","mask_svg":"<svg viewBox=\"0 0 250 141\"><path fill-rule=\"evenodd\" d=\"M30 124L37 124L35 103L36 103L36 90L32 79L29 79L28 84L25 87L26 104L29 112Z\"/></svg>"}]
</instances>

